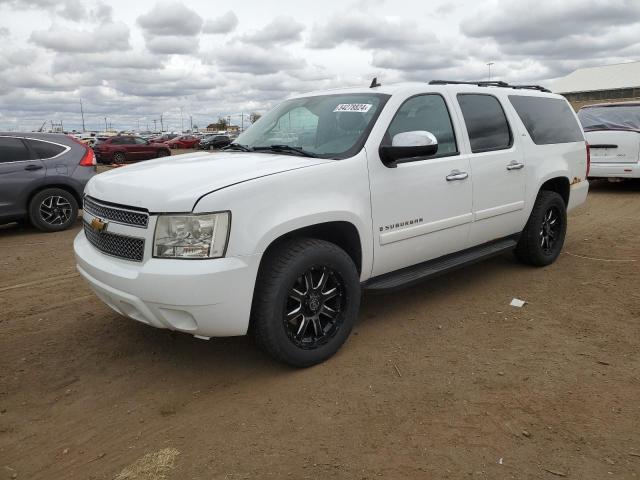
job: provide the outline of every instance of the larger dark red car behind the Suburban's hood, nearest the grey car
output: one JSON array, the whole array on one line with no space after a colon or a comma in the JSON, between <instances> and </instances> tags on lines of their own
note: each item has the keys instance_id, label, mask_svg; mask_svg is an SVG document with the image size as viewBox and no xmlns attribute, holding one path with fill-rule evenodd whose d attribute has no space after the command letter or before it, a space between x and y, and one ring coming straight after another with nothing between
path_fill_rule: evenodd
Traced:
<instances>
[{"instance_id":1,"label":"larger dark red car behind the Suburban's hood, nearest the grey car","mask_svg":"<svg viewBox=\"0 0 640 480\"><path fill-rule=\"evenodd\" d=\"M152 143L128 135L108 137L93 147L98 163L124 163L166 157L171 150L164 143Z\"/></svg>"}]
</instances>

